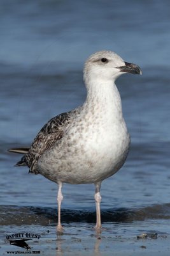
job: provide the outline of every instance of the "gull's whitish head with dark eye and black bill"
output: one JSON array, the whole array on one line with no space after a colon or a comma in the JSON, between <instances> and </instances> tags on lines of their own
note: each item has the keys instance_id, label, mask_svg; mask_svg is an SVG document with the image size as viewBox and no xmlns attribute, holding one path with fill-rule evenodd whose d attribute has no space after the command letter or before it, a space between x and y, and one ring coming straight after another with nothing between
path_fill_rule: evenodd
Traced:
<instances>
[{"instance_id":1,"label":"gull's whitish head with dark eye and black bill","mask_svg":"<svg viewBox=\"0 0 170 256\"><path fill-rule=\"evenodd\" d=\"M92 54L85 62L84 80L115 81L125 73L141 74L141 69L132 63L125 62L112 51L99 51Z\"/></svg>"}]
</instances>

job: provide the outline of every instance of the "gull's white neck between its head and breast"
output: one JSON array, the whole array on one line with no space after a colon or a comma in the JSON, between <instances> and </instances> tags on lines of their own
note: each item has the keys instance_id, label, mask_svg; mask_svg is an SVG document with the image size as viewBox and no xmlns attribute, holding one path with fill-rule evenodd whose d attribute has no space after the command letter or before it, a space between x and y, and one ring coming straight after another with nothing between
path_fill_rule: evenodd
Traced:
<instances>
[{"instance_id":1,"label":"gull's white neck between its head and breast","mask_svg":"<svg viewBox=\"0 0 170 256\"><path fill-rule=\"evenodd\" d=\"M86 111L91 115L103 113L105 116L111 115L110 118L122 117L122 103L114 81L93 79L86 86L87 99L83 104Z\"/></svg>"}]
</instances>

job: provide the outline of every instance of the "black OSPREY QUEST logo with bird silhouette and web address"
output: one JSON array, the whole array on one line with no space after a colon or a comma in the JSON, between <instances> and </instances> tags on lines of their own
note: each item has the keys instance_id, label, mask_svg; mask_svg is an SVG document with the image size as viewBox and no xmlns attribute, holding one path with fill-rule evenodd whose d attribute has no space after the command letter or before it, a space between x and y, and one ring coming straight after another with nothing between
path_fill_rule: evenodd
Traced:
<instances>
[{"instance_id":1,"label":"black OSPREY QUEST logo with bird silhouette and web address","mask_svg":"<svg viewBox=\"0 0 170 256\"><path fill-rule=\"evenodd\" d=\"M39 239L41 236L39 234L35 234L32 232L21 232L17 234L10 234L6 236L6 239L9 241L11 245L18 246L20 248L24 248L25 251L10 251L6 252L8 254L11 253L41 253L39 250L32 250L32 246L29 245L29 241L34 239Z\"/></svg>"}]
</instances>

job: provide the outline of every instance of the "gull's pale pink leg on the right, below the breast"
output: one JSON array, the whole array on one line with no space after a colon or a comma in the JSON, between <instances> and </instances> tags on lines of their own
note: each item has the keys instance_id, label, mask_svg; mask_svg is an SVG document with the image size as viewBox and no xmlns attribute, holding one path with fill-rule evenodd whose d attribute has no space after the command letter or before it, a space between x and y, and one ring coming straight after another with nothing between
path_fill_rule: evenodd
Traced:
<instances>
[{"instance_id":1,"label":"gull's pale pink leg on the right, below the breast","mask_svg":"<svg viewBox=\"0 0 170 256\"><path fill-rule=\"evenodd\" d=\"M100 189L101 189L101 182L95 183L95 201L96 201L96 229L100 230L101 228L101 195L100 195Z\"/></svg>"}]
</instances>

